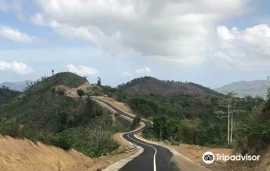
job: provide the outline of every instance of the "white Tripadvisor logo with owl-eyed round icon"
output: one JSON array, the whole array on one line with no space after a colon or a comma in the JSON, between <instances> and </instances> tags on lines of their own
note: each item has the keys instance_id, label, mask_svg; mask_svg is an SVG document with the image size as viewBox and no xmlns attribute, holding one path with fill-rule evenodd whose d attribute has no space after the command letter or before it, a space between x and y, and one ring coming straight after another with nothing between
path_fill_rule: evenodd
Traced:
<instances>
[{"instance_id":1,"label":"white Tripadvisor logo with owl-eyed round icon","mask_svg":"<svg viewBox=\"0 0 270 171\"><path fill-rule=\"evenodd\" d=\"M211 164L214 162L215 158L216 158L216 161L258 161L259 160L259 157L260 156L251 156L251 155L231 155L231 156L228 156L228 155L220 155L220 154L213 154L212 152L205 152L203 155L202 155L202 160L207 163L207 164Z\"/></svg>"}]
</instances>

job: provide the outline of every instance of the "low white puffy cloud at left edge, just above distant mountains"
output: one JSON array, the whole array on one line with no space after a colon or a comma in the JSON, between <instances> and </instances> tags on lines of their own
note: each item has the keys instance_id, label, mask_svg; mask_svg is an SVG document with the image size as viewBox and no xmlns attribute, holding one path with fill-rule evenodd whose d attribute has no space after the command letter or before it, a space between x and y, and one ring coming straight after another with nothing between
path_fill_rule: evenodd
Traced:
<instances>
[{"instance_id":1,"label":"low white puffy cloud at left edge, just above distant mountains","mask_svg":"<svg viewBox=\"0 0 270 171\"><path fill-rule=\"evenodd\" d=\"M0 61L0 70L12 70L15 73L20 75L32 73L33 70L28 67L25 63L19 63L17 61L13 61L12 63Z\"/></svg>"}]
</instances>

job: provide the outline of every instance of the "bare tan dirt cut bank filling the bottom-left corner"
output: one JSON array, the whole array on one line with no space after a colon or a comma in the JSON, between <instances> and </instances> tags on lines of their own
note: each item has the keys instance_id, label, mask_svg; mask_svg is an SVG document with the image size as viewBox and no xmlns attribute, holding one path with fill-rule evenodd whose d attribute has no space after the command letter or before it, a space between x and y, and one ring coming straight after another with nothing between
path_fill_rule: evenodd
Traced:
<instances>
[{"instance_id":1,"label":"bare tan dirt cut bank filling the bottom-left corner","mask_svg":"<svg viewBox=\"0 0 270 171\"><path fill-rule=\"evenodd\" d=\"M0 136L0 170L71 170L94 161L74 149L64 151L42 143Z\"/></svg>"}]
</instances>

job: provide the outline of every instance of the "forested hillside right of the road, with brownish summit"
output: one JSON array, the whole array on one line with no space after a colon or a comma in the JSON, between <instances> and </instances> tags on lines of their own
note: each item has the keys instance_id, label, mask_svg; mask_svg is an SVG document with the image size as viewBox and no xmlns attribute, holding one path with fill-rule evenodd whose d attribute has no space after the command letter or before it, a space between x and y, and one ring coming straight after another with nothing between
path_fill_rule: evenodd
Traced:
<instances>
[{"instance_id":1,"label":"forested hillside right of the road, with brownish summit","mask_svg":"<svg viewBox=\"0 0 270 171\"><path fill-rule=\"evenodd\" d=\"M162 93L161 86L153 86L153 80L160 85L168 84L167 87L172 85L170 88L173 91ZM174 84L181 86L173 87ZM191 91L190 85L196 88ZM258 96L237 98L234 94L226 96L196 83L161 81L147 76L133 79L118 88L104 88L108 95L127 103L135 113L154 122L152 128L145 129L144 136L210 147L228 146L228 118L220 118L215 113L216 110L226 111L220 107L220 101L231 96L237 102L235 110L239 112L233 115L232 142L235 142L236 134L239 134L236 131L238 125L247 120L253 107L264 102Z\"/></svg>"}]
</instances>

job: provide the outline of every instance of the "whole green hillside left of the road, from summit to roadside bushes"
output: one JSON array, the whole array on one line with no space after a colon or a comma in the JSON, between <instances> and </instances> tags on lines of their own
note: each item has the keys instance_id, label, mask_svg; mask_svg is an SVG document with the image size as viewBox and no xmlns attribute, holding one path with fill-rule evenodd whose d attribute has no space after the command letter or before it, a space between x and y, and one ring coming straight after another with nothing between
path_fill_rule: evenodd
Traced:
<instances>
[{"instance_id":1,"label":"whole green hillside left of the road, from summit to roadside bushes","mask_svg":"<svg viewBox=\"0 0 270 171\"><path fill-rule=\"evenodd\" d=\"M111 113L90 97L70 98L57 85L76 88L87 80L74 73L56 73L29 83L0 108L0 134L27 138L98 157L119 147L111 135L128 127L113 125ZM98 129L97 129L98 126Z\"/></svg>"}]
</instances>

